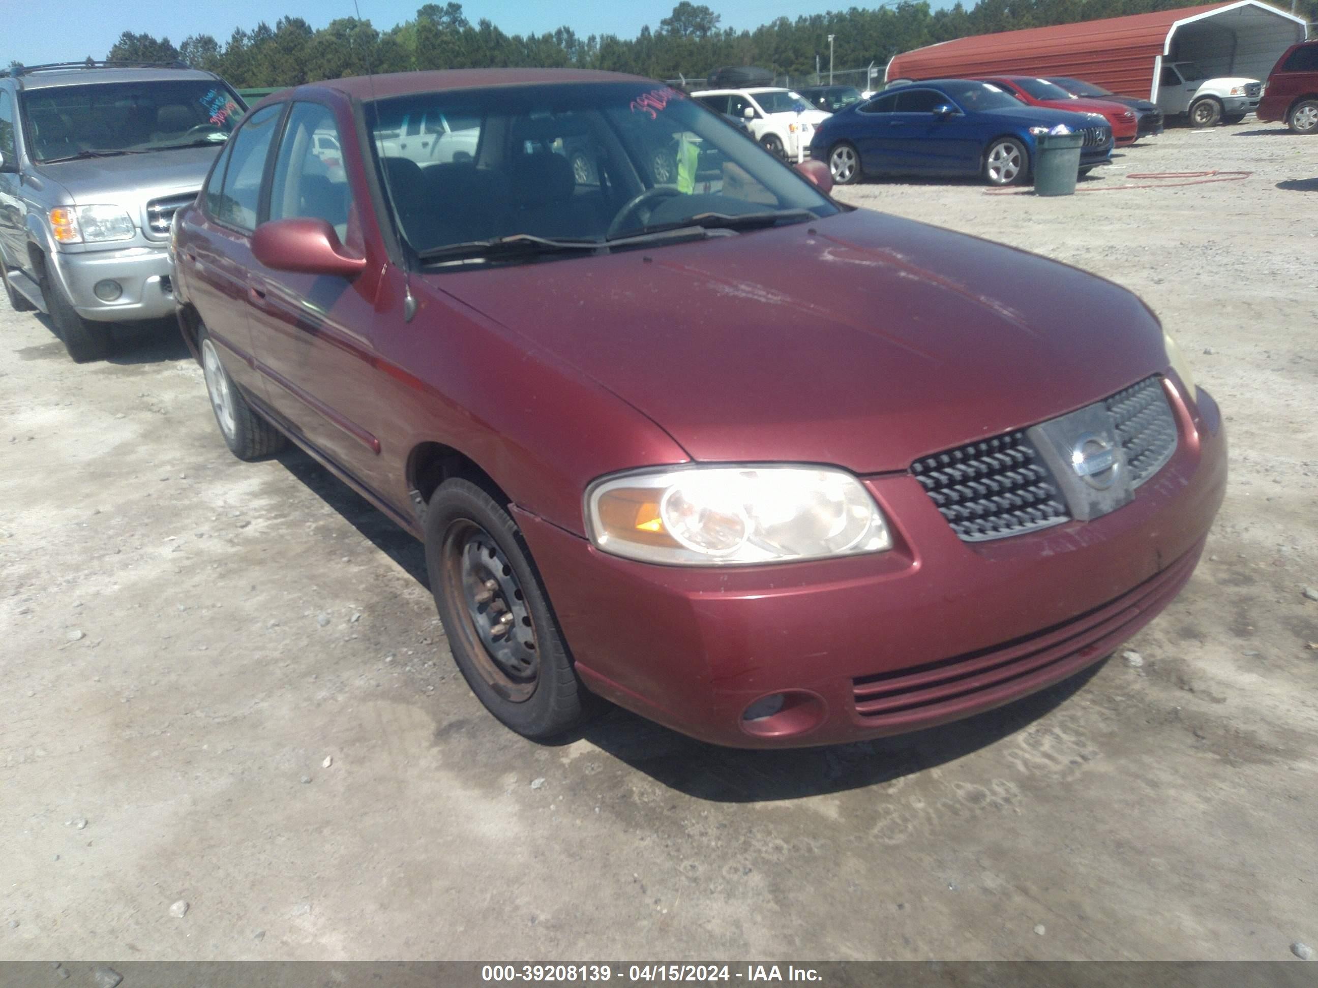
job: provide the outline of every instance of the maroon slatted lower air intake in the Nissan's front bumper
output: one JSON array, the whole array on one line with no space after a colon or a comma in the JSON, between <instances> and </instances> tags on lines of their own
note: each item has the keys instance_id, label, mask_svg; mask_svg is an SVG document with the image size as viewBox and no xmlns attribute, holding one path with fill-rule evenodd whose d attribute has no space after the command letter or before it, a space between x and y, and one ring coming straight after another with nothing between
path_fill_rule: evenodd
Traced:
<instances>
[{"instance_id":1,"label":"maroon slatted lower air intake in the Nissan's front bumper","mask_svg":"<svg viewBox=\"0 0 1318 988\"><path fill-rule=\"evenodd\" d=\"M1043 689L1111 655L1185 586L1203 544L1133 590L1032 635L925 665L851 681L866 726L902 730L944 714L963 717Z\"/></svg>"}]
</instances>

